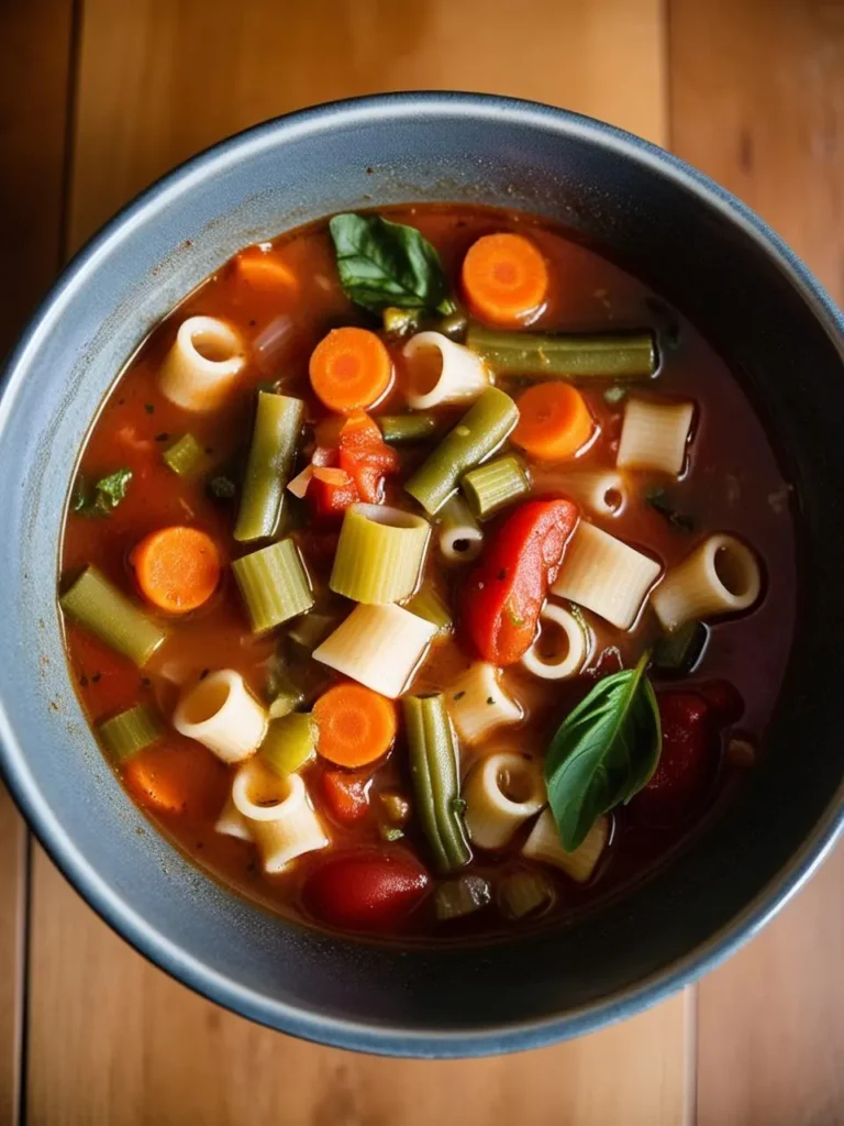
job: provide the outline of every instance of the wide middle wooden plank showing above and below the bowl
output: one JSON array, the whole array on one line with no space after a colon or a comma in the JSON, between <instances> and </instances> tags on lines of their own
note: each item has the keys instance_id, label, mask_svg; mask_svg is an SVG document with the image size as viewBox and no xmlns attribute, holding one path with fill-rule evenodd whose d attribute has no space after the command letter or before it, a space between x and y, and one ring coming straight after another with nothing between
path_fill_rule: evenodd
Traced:
<instances>
[{"instance_id":1,"label":"wide middle wooden plank showing above and below the bowl","mask_svg":"<svg viewBox=\"0 0 844 1126\"><path fill-rule=\"evenodd\" d=\"M539 98L664 138L659 0L532 0L518 19L510 0L86 0L71 242L230 132L317 100L424 87ZM685 1117L683 997L528 1056L396 1063L278 1036L188 993L117 940L42 854L33 923L35 1124Z\"/></svg>"}]
</instances>

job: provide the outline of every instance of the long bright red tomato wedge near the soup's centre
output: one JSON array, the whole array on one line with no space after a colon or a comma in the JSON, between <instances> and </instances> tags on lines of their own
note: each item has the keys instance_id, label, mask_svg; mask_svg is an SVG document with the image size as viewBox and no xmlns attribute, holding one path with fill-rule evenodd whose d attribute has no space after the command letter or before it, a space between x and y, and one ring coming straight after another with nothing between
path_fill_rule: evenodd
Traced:
<instances>
[{"instance_id":1,"label":"long bright red tomato wedge near the soup's centre","mask_svg":"<svg viewBox=\"0 0 844 1126\"><path fill-rule=\"evenodd\" d=\"M530 649L576 524L571 500L529 500L499 529L461 604L463 627L485 661L512 664Z\"/></svg>"}]
</instances>

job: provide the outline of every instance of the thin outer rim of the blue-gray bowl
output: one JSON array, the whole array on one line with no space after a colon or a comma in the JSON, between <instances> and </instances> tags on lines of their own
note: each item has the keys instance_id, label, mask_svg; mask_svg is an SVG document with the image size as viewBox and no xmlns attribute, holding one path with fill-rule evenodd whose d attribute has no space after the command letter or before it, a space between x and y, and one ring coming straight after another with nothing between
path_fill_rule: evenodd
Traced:
<instances>
[{"instance_id":1,"label":"thin outer rim of the blue-gray bowl","mask_svg":"<svg viewBox=\"0 0 844 1126\"><path fill-rule=\"evenodd\" d=\"M709 177L658 145L604 122L536 101L494 95L414 91L374 95L324 102L271 118L218 142L179 164L132 199L72 258L30 318L10 354L0 384L0 440L9 404L27 375L28 355L51 322L62 314L65 296L86 283L109 245L150 212L167 206L170 195L183 191L195 179L251 152L272 148L286 138L320 132L339 124L372 124L379 119L442 115L474 120L540 127L575 136L668 178L697 196L727 222L751 236L790 280L815 318L844 354L844 316L800 258L755 212ZM563 1016L517 1021L490 1029L454 1031L378 1027L362 1021L305 1012L235 984L212 969L147 923L131 903L111 890L89 866L48 806L30 774L26 754L8 722L0 699L0 771L29 829L74 890L122 938L159 968L209 1000L269 1028L330 1045L379 1055L451 1058L485 1056L541 1047L594 1031L634 1016L712 969L758 930L809 879L844 828L844 786L833 795L823 817L802 847L776 877L746 908L686 956L648 975L629 989Z\"/></svg>"}]
</instances>

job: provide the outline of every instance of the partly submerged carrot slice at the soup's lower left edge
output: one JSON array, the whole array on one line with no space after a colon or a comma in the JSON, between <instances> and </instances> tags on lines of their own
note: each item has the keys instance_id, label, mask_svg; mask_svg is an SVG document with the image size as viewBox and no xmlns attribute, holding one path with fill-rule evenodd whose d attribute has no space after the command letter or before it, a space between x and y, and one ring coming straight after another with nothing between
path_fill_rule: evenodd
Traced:
<instances>
[{"instance_id":1,"label":"partly submerged carrot slice at the soup's lower left edge","mask_svg":"<svg viewBox=\"0 0 844 1126\"><path fill-rule=\"evenodd\" d=\"M123 767L127 788L164 813L214 814L224 799L227 772L204 748L161 743L138 751Z\"/></svg>"}]
</instances>

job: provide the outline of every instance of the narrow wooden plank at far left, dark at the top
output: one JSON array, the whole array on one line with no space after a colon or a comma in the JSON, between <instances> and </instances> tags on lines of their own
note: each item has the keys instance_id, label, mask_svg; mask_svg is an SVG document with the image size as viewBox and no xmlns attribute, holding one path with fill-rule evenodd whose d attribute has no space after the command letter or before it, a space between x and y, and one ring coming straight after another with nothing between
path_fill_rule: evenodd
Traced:
<instances>
[{"instance_id":1,"label":"narrow wooden plank at far left, dark at the top","mask_svg":"<svg viewBox=\"0 0 844 1126\"><path fill-rule=\"evenodd\" d=\"M70 0L29 0L0 10L0 357L60 261ZM26 826L0 786L0 1123L20 1096Z\"/></svg>"}]
</instances>

